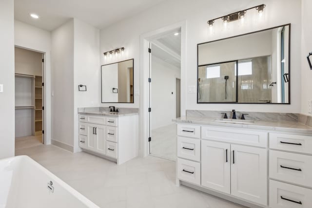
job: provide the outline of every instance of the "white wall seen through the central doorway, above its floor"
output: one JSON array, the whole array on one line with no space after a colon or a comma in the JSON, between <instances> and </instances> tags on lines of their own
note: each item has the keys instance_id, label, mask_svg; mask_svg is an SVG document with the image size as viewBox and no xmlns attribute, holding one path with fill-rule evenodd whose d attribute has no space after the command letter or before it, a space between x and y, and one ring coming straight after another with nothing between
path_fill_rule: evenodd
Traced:
<instances>
[{"instance_id":1,"label":"white wall seen through the central doorway, above its floor","mask_svg":"<svg viewBox=\"0 0 312 208\"><path fill-rule=\"evenodd\" d=\"M179 68L152 56L152 130L176 118L176 78L180 78Z\"/></svg>"}]
</instances>

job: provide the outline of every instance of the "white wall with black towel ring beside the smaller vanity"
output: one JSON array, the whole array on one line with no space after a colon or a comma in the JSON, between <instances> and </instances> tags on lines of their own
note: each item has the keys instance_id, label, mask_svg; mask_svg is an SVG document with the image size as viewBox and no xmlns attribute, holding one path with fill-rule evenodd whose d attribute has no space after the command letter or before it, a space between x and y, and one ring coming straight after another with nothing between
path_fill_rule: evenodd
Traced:
<instances>
[{"instance_id":1,"label":"white wall with black towel ring beside the smaller vanity","mask_svg":"<svg viewBox=\"0 0 312 208\"><path fill-rule=\"evenodd\" d=\"M99 30L74 19L74 151L78 147L78 108L98 106L100 102ZM79 92L78 85L87 86Z\"/></svg>"}]
</instances>

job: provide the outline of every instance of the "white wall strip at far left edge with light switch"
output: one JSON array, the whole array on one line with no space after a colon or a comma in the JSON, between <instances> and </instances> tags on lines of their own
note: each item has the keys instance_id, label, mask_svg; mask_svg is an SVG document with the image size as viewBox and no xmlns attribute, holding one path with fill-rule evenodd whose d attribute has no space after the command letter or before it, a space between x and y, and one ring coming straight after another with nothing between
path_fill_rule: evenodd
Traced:
<instances>
[{"instance_id":1,"label":"white wall strip at far left edge with light switch","mask_svg":"<svg viewBox=\"0 0 312 208\"><path fill-rule=\"evenodd\" d=\"M0 158L14 156L14 2L0 1Z\"/></svg>"}]
</instances>

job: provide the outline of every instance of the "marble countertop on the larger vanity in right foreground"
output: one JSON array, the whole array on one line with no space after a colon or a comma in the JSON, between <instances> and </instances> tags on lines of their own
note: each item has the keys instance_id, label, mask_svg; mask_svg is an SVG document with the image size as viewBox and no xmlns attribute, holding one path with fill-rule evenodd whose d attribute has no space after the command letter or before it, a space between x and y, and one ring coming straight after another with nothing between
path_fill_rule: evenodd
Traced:
<instances>
[{"instance_id":1,"label":"marble countertop on the larger vanity in right foreground","mask_svg":"<svg viewBox=\"0 0 312 208\"><path fill-rule=\"evenodd\" d=\"M221 127L235 127L247 129L259 129L268 131L281 131L281 132L295 132L312 135L312 127L306 126L302 123L295 121L254 121L254 123L223 123L215 121L217 118L211 117L181 117L173 119L177 123L186 124L202 124L202 125L215 125ZM237 119L239 121L239 119Z\"/></svg>"}]
</instances>

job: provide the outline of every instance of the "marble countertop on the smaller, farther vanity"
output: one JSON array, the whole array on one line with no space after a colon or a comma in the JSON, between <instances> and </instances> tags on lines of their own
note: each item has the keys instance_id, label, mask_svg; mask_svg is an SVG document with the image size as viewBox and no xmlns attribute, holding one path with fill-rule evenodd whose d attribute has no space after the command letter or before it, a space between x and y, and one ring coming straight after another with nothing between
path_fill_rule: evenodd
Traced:
<instances>
[{"instance_id":1,"label":"marble countertop on the smaller, farther vanity","mask_svg":"<svg viewBox=\"0 0 312 208\"><path fill-rule=\"evenodd\" d=\"M119 112L110 112L108 109L104 108L79 108L78 113L105 115L110 117L120 117L138 114L137 112L128 109L120 109Z\"/></svg>"}]
</instances>

